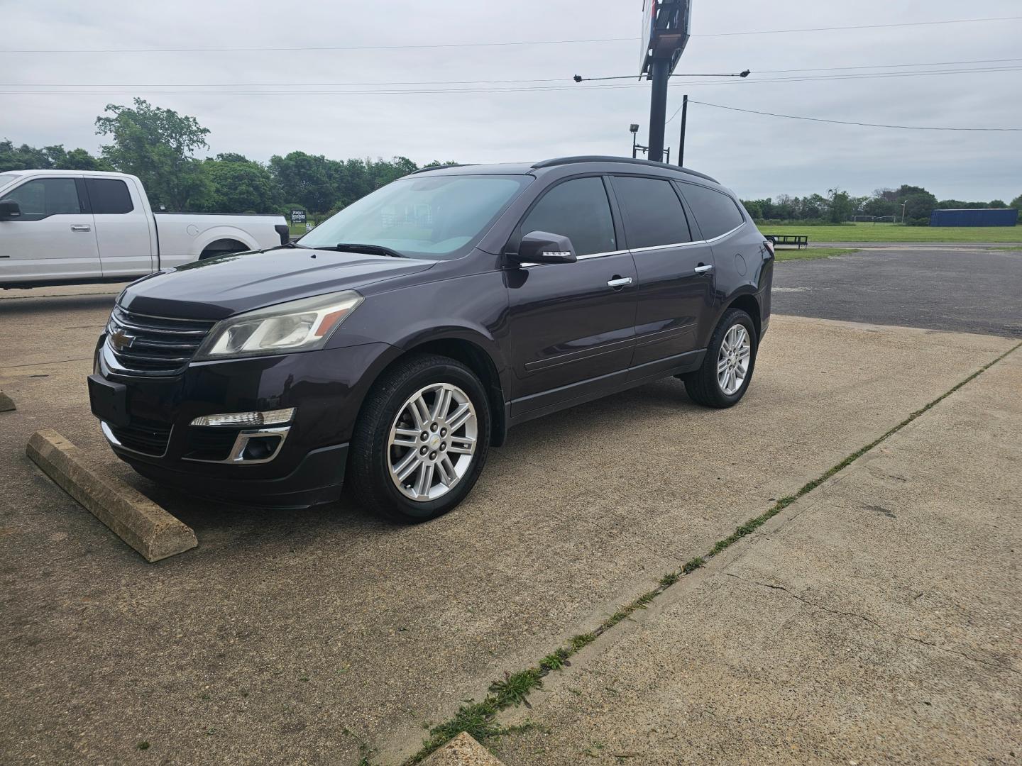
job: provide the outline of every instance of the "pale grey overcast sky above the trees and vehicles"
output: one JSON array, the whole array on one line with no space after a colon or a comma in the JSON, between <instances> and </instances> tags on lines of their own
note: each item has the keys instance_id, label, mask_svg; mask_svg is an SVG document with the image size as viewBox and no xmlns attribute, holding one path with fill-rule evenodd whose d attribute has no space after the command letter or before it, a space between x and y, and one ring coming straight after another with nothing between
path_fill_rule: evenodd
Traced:
<instances>
[{"instance_id":1,"label":"pale grey overcast sky above the trees and vehicles","mask_svg":"<svg viewBox=\"0 0 1022 766\"><path fill-rule=\"evenodd\" d=\"M856 12L852 14L850 9ZM253 52L0 52L0 138L96 151L94 121L134 95L198 118L210 153L267 160L300 149L334 158L403 154L462 162L532 160L566 154L631 153L629 124L649 125L648 85L575 85L571 77L638 71L641 0L434 0L431 3L0 0L0 49L254 48ZM1022 15L1018 0L819 0L763 3L694 0L679 71L750 68L748 80L706 85L671 80L667 114L690 98L746 109L831 119L943 127L1022 127L1022 60L920 66L1022 56L1022 20L718 37L719 33ZM474 48L267 51L289 46L381 46L630 38L610 42ZM778 69L913 64L902 71L1018 67L983 74L769 83L777 78L896 69L771 74ZM362 90L347 83L527 81L499 85L404 85L400 90L536 88L471 93L301 95L293 84ZM710 82L721 83L719 79ZM256 87L286 95L197 95L196 86ZM280 85L277 84L286 84ZM160 89L154 86L170 86ZM15 87L19 86L19 87ZM97 86L111 86L99 88ZM178 87L175 87L178 86ZM324 89L320 85L320 90ZM379 86L365 88L381 90ZM37 89L39 90L39 89ZM187 91L186 93L159 93ZM208 88L217 91L218 88ZM672 159L680 117L667 126ZM941 133L796 122L689 109L686 165L716 176L741 196L853 194L902 183L938 198L1011 200L1022 194L1018 133Z\"/></svg>"}]
</instances>

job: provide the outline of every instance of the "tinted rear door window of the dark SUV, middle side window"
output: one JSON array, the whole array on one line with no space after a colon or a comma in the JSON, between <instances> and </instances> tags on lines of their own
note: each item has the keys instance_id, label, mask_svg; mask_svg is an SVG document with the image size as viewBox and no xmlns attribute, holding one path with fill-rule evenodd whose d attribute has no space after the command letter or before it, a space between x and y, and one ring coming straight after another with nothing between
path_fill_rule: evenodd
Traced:
<instances>
[{"instance_id":1,"label":"tinted rear door window of the dark SUV, middle side window","mask_svg":"<svg viewBox=\"0 0 1022 766\"><path fill-rule=\"evenodd\" d=\"M629 221L629 247L689 242L685 208L669 181L615 176L614 193Z\"/></svg>"}]
</instances>

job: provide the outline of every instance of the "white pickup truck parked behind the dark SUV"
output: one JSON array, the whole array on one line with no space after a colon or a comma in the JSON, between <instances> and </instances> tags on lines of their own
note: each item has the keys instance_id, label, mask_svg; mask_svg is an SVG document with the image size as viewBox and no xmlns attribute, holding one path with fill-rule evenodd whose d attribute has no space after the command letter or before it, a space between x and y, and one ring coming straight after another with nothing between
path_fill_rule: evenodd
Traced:
<instances>
[{"instance_id":1,"label":"white pickup truck parked behind the dark SUV","mask_svg":"<svg viewBox=\"0 0 1022 766\"><path fill-rule=\"evenodd\" d=\"M226 252L285 244L283 216L153 214L124 173L0 173L0 288L127 282Z\"/></svg>"}]
</instances>

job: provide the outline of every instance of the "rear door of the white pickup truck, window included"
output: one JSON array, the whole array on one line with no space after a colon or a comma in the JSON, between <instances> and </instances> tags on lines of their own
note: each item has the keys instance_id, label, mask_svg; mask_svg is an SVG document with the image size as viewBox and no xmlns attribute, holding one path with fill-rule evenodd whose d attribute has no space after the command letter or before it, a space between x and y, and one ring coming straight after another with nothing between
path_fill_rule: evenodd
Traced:
<instances>
[{"instance_id":1,"label":"rear door of the white pickup truck, window included","mask_svg":"<svg viewBox=\"0 0 1022 766\"><path fill-rule=\"evenodd\" d=\"M118 178L86 178L96 243L104 277L133 276L154 271L149 217L141 199ZM137 192L136 192L137 194Z\"/></svg>"}]
</instances>

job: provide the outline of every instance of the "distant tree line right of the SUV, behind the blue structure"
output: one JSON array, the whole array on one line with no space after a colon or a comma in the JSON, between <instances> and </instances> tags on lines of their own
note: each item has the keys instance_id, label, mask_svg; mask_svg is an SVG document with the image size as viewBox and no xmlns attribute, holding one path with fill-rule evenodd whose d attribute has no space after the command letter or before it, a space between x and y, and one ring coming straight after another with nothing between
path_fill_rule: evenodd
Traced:
<instances>
[{"instance_id":1,"label":"distant tree line right of the SUV, behind the blue structure","mask_svg":"<svg viewBox=\"0 0 1022 766\"><path fill-rule=\"evenodd\" d=\"M1003 199L989 202L966 202L961 199L937 199L921 186L902 184L897 189L877 189L873 194L853 197L839 189L830 189L827 196L743 199L742 204L758 223L768 224L843 224L855 217L893 218L909 226L927 226L930 212L945 208L1014 207L1022 209L1022 194L1009 205ZM1020 217L1022 218L1022 217Z\"/></svg>"}]
</instances>

